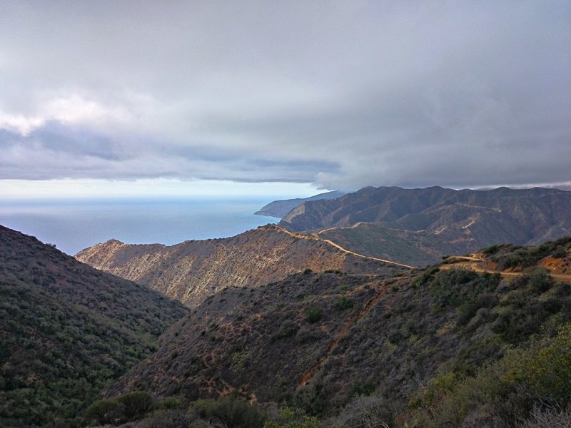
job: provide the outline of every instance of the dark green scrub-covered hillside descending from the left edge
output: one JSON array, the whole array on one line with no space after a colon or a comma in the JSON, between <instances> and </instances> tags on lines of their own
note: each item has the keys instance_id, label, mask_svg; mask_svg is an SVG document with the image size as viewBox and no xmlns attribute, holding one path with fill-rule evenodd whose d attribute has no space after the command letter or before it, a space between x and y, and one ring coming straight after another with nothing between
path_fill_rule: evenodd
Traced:
<instances>
[{"instance_id":1,"label":"dark green scrub-covered hillside descending from the left edge","mask_svg":"<svg viewBox=\"0 0 571 428\"><path fill-rule=\"evenodd\" d=\"M0 226L0 425L76 426L186 309Z\"/></svg>"}]
</instances>

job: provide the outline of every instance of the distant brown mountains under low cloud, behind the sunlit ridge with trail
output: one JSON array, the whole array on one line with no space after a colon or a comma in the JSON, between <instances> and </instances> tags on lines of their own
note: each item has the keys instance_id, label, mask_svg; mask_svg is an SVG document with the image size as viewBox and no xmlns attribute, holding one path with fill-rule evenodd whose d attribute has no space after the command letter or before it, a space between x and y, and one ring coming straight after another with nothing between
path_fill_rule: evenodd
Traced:
<instances>
[{"instance_id":1,"label":"distant brown mountains under low cloud, behind the sunlit ridge with trail","mask_svg":"<svg viewBox=\"0 0 571 428\"><path fill-rule=\"evenodd\" d=\"M537 245L571 233L571 193L557 189L363 188L299 205L280 222L372 257L426 265L500 243Z\"/></svg>"}]
</instances>

